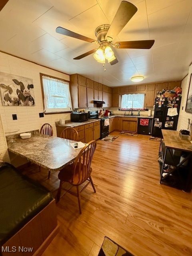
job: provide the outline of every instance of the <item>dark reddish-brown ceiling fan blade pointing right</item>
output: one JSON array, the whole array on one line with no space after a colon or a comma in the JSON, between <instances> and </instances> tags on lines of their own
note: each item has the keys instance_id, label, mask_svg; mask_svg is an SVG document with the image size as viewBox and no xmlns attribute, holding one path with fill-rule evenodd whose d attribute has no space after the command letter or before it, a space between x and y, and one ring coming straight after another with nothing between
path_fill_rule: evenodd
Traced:
<instances>
[{"instance_id":1,"label":"dark reddish-brown ceiling fan blade pointing right","mask_svg":"<svg viewBox=\"0 0 192 256\"><path fill-rule=\"evenodd\" d=\"M114 45L116 48L124 49L150 49L155 40L139 40L139 41L125 41L125 42L116 42ZM119 45L119 47L118 47Z\"/></svg>"}]
</instances>

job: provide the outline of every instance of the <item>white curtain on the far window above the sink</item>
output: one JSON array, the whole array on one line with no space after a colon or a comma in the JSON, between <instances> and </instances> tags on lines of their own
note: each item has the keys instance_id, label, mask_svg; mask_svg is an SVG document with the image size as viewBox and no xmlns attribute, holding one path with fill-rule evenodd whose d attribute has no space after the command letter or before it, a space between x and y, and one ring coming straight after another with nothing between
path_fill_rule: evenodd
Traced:
<instances>
[{"instance_id":1,"label":"white curtain on the far window above the sink","mask_svg":"<svg viewBox=\"0 0 192 256\"><path fill-rule=\"evenodd\" d=\"M121 109L144 109L145 94L124 94Z\"/></svg>"}]
</instances>

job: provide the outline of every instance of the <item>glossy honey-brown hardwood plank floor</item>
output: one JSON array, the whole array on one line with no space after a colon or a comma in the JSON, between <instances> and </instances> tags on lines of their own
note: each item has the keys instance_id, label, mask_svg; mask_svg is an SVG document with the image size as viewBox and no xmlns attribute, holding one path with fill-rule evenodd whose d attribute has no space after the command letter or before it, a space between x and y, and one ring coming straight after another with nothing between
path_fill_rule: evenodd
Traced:
<instances>
[{"instance_id":1,"label":"glossy honey-brown hardwood plank floor","mask_svg":"<svg viewBox=\"0 0 192 256\"><path fill-rule=\"evenodd\" d=\"M192 255L192 194L160 185L159 143L149 136L99 140L92 162L96 194L89 185L77 198L57 204L60 233L43 256L97 256L108 236L135 256ZM36 168L38 171L38 168ZM25 173L56 194L57 173ZM65 185L65 184L64 184Z\"/></svg>"}]
</instances>

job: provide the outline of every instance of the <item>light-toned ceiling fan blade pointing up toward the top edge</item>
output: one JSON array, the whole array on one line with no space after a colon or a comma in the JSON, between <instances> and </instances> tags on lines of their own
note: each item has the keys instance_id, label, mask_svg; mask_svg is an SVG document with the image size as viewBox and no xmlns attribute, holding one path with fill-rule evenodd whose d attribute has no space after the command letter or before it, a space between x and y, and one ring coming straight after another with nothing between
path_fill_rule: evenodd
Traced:
<instances>
[{"instance_id":1,"label":"light-toned ceiling fan blade pointing up toward the top edge","mask_svg":"<svg viewBox=\"0 0 192 256\"><path fill-rule=\"evenodd\" d=\"M134 16L136 11L137 8L134 6L134 4L122 1L106 34L106 38L109 36L114 39L124 28L127 22L132 18L132 16Z\"/></svg>"}]
</instances>

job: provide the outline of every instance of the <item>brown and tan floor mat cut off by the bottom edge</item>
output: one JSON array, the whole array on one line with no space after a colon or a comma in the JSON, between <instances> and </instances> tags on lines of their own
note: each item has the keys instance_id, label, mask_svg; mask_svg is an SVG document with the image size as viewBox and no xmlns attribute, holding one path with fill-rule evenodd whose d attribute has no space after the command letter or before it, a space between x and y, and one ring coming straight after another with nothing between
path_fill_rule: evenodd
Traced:
<instances>
[{"instance_id":1,"label":"brown and tan floor mat cut off by the bottom edge","mask_svg":"<svg viewBox=\"0 0 192 256\"><path fill-rule=\"evenodd\" d=\"M120 245L116 244L110 238L105 236L98 256L134 256Z\"/></svg>"}]
</instances>

